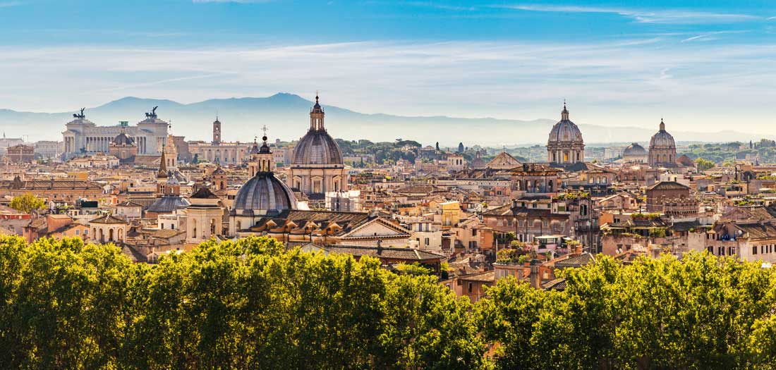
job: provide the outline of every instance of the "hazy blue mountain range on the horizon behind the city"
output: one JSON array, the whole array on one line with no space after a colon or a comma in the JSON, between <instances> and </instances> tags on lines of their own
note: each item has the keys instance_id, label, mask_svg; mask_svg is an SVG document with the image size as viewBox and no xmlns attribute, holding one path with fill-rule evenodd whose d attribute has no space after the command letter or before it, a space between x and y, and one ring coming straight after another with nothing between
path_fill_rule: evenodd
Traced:
<instances>
[{"instance_id":1,"label":"hazy blue mountain range on the horizon behind the city","mask_svg":"<svg viewBox=\"0 0 776 370\"><path fill-rule=\"evenodd\" d=\"M422 144L436 141L443 147L454 147L459 142L501 146L546 143L549 129L557 119L466 119L446 116L393 116L365 114L326 105L326 127L333 137L348 140L368 139L390 141L397 138L416 140ZM210 140L211 123L218 114L222 122L223 140L251 141L262 136L262 126L268 128L271 140L296 140L304 135L309 123L308 112L313 102L299 95L279 93L266 98L209 99L192 104L171 100L126 97L105 105L85 110L86 118L99 126L116 125L119 121L130 124L144 119L158 105L157 114L172 125L171 132L184 135L187 140ZM0 128L8 137L29 140L61 140L64 124L73 112L43 113L16 112L0 109ZM579 124L585 142L590 144L646 142L657 130L655 127L608 127ZM668 126L677 141L749 141L764 135L726 130L717 132L684 132Z\"/></svg>"}]
</instances>

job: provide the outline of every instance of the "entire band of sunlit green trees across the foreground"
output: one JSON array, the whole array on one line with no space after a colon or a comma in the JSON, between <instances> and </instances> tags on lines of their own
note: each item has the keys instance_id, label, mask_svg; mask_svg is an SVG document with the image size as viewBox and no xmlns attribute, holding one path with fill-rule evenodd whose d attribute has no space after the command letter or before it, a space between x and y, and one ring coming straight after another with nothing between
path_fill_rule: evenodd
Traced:
<instances>
[{"instance_id":1,"label":"entire band of sunlit green trees across the foreground","mask_svg":"<svg viewBox=\"0 0 776 370\"><path fill-rule=\"evenodd\" d=\"M0 237L0 368L772 368L776 273L685 254L512 278L471 305L372 258ZM485 355L486 348L490 348Z\"/></svg>"}]
</instances>

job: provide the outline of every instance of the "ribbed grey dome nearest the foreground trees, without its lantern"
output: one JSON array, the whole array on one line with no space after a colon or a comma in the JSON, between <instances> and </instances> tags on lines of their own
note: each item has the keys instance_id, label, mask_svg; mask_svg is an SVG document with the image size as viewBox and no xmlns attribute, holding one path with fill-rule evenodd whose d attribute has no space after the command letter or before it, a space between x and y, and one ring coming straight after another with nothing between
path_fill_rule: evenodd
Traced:
<instances>
[{"instance_id":1,"label":"ribbed grey dome nearest the foreground trees, without its lantern","mask_svg":"<svg viewBox=\"0 0 776 370\"><path fill-rule=\"evenodd\" d=\"M296 209L293 192L272 172L259 172L245 182L234 198L232 214L277 214L286 209Z\"/></svg>"}]
</instances>

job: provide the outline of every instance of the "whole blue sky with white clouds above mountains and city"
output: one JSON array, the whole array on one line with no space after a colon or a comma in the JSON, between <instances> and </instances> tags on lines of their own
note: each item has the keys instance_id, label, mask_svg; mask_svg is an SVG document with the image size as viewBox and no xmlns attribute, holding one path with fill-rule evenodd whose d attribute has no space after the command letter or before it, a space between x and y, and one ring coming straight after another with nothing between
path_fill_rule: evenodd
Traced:
<instances>
[{"instance_id":1,"label":"whole blue sky with white clouds above mountains and city","mask_svg":"<svg viewBox=\"0 0 776 370\"><path fill-rule=\"evenodd\" d=\"M771 133L776 4L0 0L0 108L320 90L361 112Z\"/></svg>"}]
</instances>

